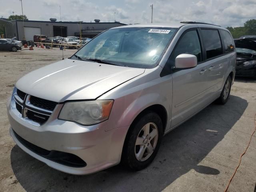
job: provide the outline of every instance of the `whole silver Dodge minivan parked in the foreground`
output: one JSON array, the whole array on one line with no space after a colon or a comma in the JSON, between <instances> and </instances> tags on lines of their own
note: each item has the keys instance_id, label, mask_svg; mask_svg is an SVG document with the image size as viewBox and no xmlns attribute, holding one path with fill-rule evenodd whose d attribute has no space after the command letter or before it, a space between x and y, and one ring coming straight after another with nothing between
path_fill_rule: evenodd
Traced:
<instances>
[{"instance_id":1,"label":"whole silver Dodge minivan parked in the foreground","mask_svg":"<svg viewBox=\"0 0 256 192\"><path fill-rule=\"evenodd\" d=\"M122 162L141 170L162 136L217 101L234 81L233 38L182 22L106 30L73 56L20 78L8 101L22 150L70 174Z\"/></svg>"}]
</instances>

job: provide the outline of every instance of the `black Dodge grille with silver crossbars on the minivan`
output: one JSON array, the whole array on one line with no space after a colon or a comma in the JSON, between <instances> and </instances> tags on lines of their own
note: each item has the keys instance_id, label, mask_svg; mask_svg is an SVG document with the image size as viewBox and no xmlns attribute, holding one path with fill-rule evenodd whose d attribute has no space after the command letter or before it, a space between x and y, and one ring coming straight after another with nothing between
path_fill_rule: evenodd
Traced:
<instances>
[{"instance_id":1,"label":"black Dodge grille with silver crossbars on the minivan","mask_svg":"<svg viewBox=\"0 0 256 192\"><path fill-rule=\"evenodd\" d=\"M58 103L26 94L14 88L11 100L12 112L34 126L41 126L51 116Z\"/></svg>"}]
</instances>

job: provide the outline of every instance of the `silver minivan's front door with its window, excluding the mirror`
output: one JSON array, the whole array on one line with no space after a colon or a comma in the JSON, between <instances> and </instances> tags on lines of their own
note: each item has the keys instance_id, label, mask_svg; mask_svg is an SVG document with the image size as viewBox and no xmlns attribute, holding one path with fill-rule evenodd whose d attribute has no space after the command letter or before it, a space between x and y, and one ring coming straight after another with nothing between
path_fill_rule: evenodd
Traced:
<instances>
[{"instance_id":1,"label":"silver minivan's front door with its window, excluding the mirror","mask_svg":"<svg viewBox=\"0 0 256 192\"><path fill-rule=\"evenodd\" d=\"M172 72L172 127L198 112L207 103L204 99L208 88L207 64L202 63L202 46L197 29L182 34L167 64L174 66L176 56L183 53L195 55L198 65Z\"/></svg>"}]
</instances>

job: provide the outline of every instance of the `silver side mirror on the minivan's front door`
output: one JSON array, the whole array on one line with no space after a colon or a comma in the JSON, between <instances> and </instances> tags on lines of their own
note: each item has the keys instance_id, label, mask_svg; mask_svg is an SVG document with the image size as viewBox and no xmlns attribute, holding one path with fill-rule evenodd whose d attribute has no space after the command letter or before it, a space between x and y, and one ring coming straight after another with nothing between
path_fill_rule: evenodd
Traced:
<instances>
[{"instance_id":1,"label":"silver side mirror on the minivan's front door","mask_svg":"<svg viewBox=\"0 0 256 192\"><path fill-rule=\"evenodd\" d=\"M197 66L197 58L191 54L180 54L175 59L176 69L189 69Z\"/></svg>"}]
</instances>

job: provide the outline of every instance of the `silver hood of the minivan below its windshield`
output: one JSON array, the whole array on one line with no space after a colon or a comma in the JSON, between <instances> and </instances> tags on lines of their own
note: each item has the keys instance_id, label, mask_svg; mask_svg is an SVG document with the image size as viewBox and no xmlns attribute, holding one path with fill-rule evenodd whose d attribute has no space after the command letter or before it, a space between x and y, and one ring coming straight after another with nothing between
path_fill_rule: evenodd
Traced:
<instances>
[{"instance_id":1,"label":"silver hood of the minivan below its windshield","mask_svg":"<svg viewBox=\"0 0 256 192\"><path fill-rule=\"evenodd\" d=\"M20 78L16 87L46 100L96 99L110 89L143 74L145 69L65 59Z\"/></svg>"}]
</instances>

